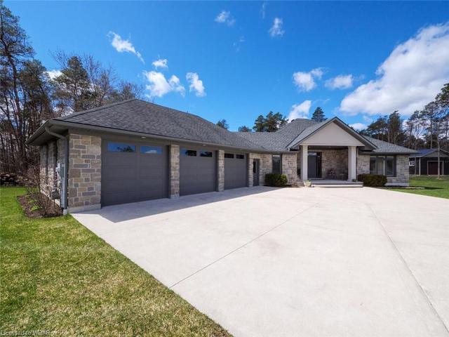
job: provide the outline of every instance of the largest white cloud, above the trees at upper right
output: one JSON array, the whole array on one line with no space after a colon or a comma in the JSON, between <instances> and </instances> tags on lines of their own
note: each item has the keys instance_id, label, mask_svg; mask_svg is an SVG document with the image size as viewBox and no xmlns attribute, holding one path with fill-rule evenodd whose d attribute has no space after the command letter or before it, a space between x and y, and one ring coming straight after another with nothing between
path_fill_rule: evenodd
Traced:
<instances>
[{"instance_id":1,"label":"largest white cloud, above the trees at upper right","mask_svg":"<svg viewBox=\"0 0 449 337\"><path fill-rule=\"evenodd\" d=\"M434 100L449 81L449 22L420 29L394 48L377 68L377 79L358 86L340 104L348 115L410 115Z\"/></svg>"}]
</instances>

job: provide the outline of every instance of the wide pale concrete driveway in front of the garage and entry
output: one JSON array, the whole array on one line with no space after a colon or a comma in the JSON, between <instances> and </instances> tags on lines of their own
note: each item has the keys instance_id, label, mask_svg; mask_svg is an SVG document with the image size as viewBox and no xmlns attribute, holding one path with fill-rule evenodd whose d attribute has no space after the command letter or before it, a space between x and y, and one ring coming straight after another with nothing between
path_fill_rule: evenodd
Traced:
<instances>
[{"instance_id":1,"label":"wide pale concrete driveway in front of the garage and entry","mask_svg":"<svg viewBox=\"0 0 449 337\"><path fill-rule=\"evenodd\" d=\"M74 214L234 336L449 336L449 200L243 188Z\"/></svg>"}]
</instances>

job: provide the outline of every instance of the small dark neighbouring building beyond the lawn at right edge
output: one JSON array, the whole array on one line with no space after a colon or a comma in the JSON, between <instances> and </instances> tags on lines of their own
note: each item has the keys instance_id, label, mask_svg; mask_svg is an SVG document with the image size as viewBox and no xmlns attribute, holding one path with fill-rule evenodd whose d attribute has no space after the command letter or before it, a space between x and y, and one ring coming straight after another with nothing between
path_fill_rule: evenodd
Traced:
<instances>
[{"instance_id":1,"label":"small dark neighbouring building beyond the lawn at right edge","mask_svg":"<svg viewBox=\"0 0 449 337\"><path fill-rule=\"evenodd\" d=\"M417 176L438 174L438 149L422 149L410 154L410 174ZM440 174L449 175L449 152L440 150Z\"/></svg>"}]
</instances>

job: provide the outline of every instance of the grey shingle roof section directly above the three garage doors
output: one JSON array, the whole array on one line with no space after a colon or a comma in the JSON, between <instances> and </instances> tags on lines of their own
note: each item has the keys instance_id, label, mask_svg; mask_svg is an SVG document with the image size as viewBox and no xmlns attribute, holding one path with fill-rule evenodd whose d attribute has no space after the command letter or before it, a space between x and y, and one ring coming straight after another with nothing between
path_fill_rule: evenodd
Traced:
<instances>
[{"instance_id":1,"label":"grey shingle roof section directly above the three garage doors","mask_svg":"<svg viewBox=\"0 0 449 337\"><path fill-rule=\"evenodd\" d=\"M69 114L56 120L266 151L260 145L194 114L137 99Z\"/></svg>"}]
</instances>

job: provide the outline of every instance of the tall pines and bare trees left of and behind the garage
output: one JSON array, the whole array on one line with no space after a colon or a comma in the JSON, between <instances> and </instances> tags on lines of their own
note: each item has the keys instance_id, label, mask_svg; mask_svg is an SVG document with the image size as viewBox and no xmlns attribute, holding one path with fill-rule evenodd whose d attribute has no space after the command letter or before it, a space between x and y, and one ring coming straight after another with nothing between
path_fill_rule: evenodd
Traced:
<instances>
[{"instance_id":1,"label":"tall pines and bare trees left of and behind the garage","mask_svg":"<svg viewBox=\"0 0 449 337\"><path fill-rule=\"evenodd\" d=\"M48 72L19 18L0 2L0 170L26 173L39 162L26 140L43 121L107 103L141 98L142 86L123 81L92 55L56 51L60 70Z\"/></svg>"}]
</instances>

